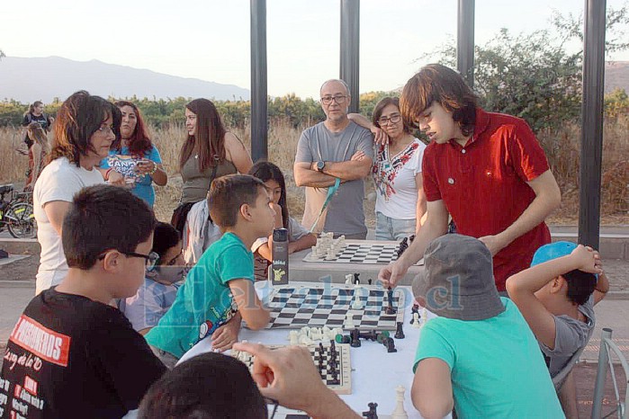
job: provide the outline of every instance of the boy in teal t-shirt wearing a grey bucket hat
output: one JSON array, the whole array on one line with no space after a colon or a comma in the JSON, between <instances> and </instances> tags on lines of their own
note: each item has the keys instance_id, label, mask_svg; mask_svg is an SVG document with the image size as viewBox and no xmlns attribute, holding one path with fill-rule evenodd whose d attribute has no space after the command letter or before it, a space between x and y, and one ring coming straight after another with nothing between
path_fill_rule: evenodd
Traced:
<instances>
[{"instance_id":1,"label":"boy in teal t-shirt wearing a grey bucket hat","mask_svg":"<svg viewBox=\"0 0 629 419\"><path fill-rule=\"evenodd\" d=\"M424 417L564 417L535 335L501 299L490 250L476 238L438 237L413 283L437 316L424 325L413 366L413 405Z\"/></svg>"}]
</instances>

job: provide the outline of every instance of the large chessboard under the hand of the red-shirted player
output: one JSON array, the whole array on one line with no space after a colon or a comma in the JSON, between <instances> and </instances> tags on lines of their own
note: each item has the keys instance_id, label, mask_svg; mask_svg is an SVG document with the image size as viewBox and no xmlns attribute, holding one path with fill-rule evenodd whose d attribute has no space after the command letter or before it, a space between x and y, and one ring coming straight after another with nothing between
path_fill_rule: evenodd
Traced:
<instances>
[{"instance_id":1,"label":"large chessboard under the hand of the red-shirted player","mask_svg":"<svg viewBox=\"0 0 629 419\"><path fill-rule=\"evenodd\" d=\"M396 313L388 315L388 290L379 285L313 283L307 286L291 284L275 286L265 302L271 311L266 328L299 329L303 326L355 328L360 330L396 330L397 322L404 321L404 292L392 290L392 307ZM356 308L355 300L360 302ZM351 318L353 325L348 327Z\"/></svg>"}]
</instances>

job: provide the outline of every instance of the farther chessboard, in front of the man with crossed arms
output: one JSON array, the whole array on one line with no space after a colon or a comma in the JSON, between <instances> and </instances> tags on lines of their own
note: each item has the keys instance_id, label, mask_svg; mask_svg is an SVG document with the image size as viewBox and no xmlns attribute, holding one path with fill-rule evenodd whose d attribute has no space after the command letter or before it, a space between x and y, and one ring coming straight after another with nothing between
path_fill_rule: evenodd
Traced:
<instances>
[{"instance_id":1,"label":"farther chessboard, in front of the man with crossed arms","mask_svg":"<svg viewBox=\"0 0 629 419\"><path fill-rule=\"evenodd\" d=\"M393 244L373 244L373 243L346 243L344 247L328 254L318 256L313 250L306 257L304 262L324 262L324 263L383 263L389 264L398 260L400 245Z\"/></svg>"}]
</instances>

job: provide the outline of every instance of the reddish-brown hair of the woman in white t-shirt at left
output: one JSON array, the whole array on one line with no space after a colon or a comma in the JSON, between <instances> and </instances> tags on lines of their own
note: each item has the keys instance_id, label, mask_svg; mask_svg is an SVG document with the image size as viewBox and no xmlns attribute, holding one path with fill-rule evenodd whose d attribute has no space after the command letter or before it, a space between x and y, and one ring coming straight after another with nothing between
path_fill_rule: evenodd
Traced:
<instances>
[{"instance_id":1,"label":"reddish-brown hair of the woman in white t-shirt at left","mask_svg":"<svg viewBox=\"0 0 629 419\"><path fill-rule=\"evenodd\" d=\"M61 104L55 120L55 136L52 141L49 162L67 157L76 167L80 156L94 151L90 139L101 128L104 120L112 117L113 134L120 139L121 111L111 102L80 90Z\"/></svg>"}]
</instances>

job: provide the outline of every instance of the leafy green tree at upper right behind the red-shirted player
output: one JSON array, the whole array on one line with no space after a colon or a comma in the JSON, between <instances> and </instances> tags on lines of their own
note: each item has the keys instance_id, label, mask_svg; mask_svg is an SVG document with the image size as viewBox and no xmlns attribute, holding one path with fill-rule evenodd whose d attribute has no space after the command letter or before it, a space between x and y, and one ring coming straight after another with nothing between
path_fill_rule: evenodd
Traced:
<instances>
[{"instance_id":1,"label":"leafy green tree at upper right behind the red-shirted player","mask_svg":"<svg viewBox=\"0 0 629 419\"><path fill-rule=\"evenodd\" d=\"M583 51L568 52L571 40L583 40L581 16L553 13L553 30L513 36L507 29L485 45L474 48L474 90L481 105L526 120L535 131L560 128L566 120L578 120L581 106ZM606 50L629 48L625 28L629 10L607 11ZM425 57L437 56L456 66L454 40Z\"/></svg>"}]
</instances>

